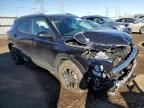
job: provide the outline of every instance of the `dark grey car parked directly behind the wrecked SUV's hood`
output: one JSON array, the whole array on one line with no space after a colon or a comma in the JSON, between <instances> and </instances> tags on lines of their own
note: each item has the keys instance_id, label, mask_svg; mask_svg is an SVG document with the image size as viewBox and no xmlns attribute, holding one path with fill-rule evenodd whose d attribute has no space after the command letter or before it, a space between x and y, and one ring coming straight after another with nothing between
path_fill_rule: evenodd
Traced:
<instances>
[{"instance_id":1,"label":"dark grey car parked directly behind the wrecked SUV's hood","mask_svg":"<svg viewBox=\"0 0 144 108\"><path fill-rule=\"evenodd\" d=\"M105 16L99 16L99 15L94 15L94 16L84 16L82 17L83 19L87 20L92 20L98 24L100 24L103 27L110 27L119 31L123 31L126 33L131 33L131 29L127 28L127 24L124 23L117 23L113 21L112 19L105 17Z\"/></svg>"}]
</instances>

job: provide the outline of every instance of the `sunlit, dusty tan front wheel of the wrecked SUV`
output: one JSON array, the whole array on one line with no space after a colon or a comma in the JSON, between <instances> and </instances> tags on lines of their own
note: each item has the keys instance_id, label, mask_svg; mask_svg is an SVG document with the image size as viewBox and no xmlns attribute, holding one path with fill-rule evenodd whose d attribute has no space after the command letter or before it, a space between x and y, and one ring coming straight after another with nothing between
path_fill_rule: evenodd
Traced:
<instances>
[{"instance_id":1,"label":"sunlit, dusty tan front wheel of the wrecked SUV","mask_svg":"<svg viewBox=\"0 0 144 108\"><path fill-rule=\"evenodd\" d=\"M70 60L65 60L58 68L61 86L74 93L84 93L87 90L80 88L84 81L80 69Z\"/></svg>"}]
</instances>

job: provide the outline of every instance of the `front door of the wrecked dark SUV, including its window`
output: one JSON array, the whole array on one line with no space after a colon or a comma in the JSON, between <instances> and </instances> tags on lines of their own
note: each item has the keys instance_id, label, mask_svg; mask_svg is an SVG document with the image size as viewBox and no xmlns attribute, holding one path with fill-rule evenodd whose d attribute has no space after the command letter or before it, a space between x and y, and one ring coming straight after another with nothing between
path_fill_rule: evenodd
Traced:
<instances>
[{"instance_id":1,"label":"front door of the wrecked dark SUV, including its window","mask_svg":"<svg viewBox=\"0 0 144 108\"><path fill-rule=\"evenodd\" d=\"M32 20L32 58L42 67L52 68L56 53L54 51L54 33L45 18ZM47 33L42 35L41 33Z\"/></svg>"}]
</instances>

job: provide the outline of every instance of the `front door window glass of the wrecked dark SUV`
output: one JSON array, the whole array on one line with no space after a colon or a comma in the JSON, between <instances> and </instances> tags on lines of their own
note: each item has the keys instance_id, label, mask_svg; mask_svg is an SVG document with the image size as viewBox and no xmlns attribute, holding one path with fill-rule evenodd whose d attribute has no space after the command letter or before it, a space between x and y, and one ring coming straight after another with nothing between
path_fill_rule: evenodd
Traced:
<instances>
[{"instance_id":1,"label":"front door window glass of the wrecked dark SUV","mask_svg":"<svg viewBox=\"0 0 144 108\"><path fill-rule=\"evenodd\" d=\"M48 37L53 36L51 28L43 18L33 20L32 32L34 35L38 35L38 33L45 33Z\"/></svg>"}]
</instances>

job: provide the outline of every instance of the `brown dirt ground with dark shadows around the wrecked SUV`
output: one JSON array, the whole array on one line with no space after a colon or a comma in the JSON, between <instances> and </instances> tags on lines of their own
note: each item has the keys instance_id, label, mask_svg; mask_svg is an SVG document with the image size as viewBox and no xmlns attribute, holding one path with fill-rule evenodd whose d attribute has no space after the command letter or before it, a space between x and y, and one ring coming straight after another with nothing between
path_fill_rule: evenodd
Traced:
<instances>
[{"instance_id":1,"label":"brown dirt ground with dark shadows around the wrecked SUV","mask_svg":"<svg viewBox=\"0 0 144 108\"><path fill-rule=\"evenodd\" d=\"M47 70L15 65L6 39L0 39L0 108L144 108L144 35L133 38L139 48L137 76L116 94L70 93Z\"/></svg>"}]
</instances>

